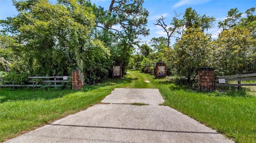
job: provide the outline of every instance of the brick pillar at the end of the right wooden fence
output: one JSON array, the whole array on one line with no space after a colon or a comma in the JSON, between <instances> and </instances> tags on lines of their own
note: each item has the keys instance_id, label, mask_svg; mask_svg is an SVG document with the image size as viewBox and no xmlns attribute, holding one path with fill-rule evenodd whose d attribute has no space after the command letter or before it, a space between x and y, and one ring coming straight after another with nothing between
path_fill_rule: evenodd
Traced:
<instances>
[{"instance_id":1,"label":"brick pillar at the end of the right wooden fence","mask_svg":"<svg viewBox=\"0 0 256 143\"><path fill-rule=\"evenodd\" d=\"M202 68L198 71L198 90L214 91L215 71L210 68Z\"/></svg>"}]
</instances>

